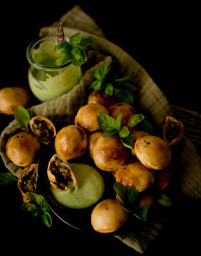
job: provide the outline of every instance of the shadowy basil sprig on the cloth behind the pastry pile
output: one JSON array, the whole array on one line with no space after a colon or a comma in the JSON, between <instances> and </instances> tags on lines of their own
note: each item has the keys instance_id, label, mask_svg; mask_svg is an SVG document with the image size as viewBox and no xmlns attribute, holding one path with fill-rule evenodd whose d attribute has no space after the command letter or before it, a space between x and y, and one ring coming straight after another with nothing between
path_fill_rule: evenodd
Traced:
<instances>
[{"instance_id":1,"label":"shadowy basil sprig on the cloth behind the pastry pile","mask_svg":"<svg viewBox=\"0 0 201 256\"><path fill-rule=\"evenodd\" d=\"M132 93L137 90L133 84L128 82L131 77L131 72L126 77L117 78L115 75L108 79L108 71L115 62L116 61L109 61L105 64L105 67L96 69L90 88L93 88L95 92L104 89L105 97L112 96L114 94L118 102L126 102L131 105L133 104Z\"/></svg>"}]
</instances>

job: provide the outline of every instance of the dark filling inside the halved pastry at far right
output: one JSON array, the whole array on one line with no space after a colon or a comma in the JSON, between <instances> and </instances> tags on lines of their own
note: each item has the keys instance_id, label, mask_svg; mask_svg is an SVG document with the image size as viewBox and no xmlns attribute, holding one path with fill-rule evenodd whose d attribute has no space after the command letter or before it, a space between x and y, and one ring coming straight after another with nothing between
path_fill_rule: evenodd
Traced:
<instances>
[{"instance_id":1,"label":"dark filling inside the halved pastry at far right","mask_svg":"<svg viewBox=\"0 0 201 256\"><path fill-rule=\"evenodd\" d=\"M165 136L168 140L168 143L171 143L173 140L179 137L179 134L181 134L182 125L180 122L175 123L169 121L165 126Z\"/></svg>"}]
</instances>

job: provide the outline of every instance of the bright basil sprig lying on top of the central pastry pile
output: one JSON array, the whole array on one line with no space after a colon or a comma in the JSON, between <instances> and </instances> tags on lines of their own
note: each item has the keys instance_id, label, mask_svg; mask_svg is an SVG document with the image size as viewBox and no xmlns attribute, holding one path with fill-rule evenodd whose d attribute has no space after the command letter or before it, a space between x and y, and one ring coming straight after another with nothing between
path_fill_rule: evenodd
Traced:
<instances>
[{"instance_id":1,"label":"bright basil sprig lying on top of the central pastry pile","mask_svg":"<svg viewBox=\"0 0 201 256\"><path fill-rule=\"evenodd\" d=\"M133 148L133 137L130 135L130 130L128 128L134 127L144 120L144 115L135 114L131 116L128 120L128 127L124 126L122 128L121 118L122 114L119 114L115 120L112 116L98 113L97 122L100 129L103 131L103 138L107 138L108 136L118 133L124 147Z\"/></svg>"}]
</instances>

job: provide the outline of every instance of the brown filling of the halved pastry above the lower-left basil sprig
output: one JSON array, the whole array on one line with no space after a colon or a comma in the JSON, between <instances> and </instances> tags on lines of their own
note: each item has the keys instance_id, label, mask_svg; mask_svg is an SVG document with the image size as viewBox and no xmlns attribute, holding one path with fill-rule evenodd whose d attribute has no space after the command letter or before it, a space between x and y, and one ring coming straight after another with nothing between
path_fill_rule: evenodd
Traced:
<instances>
[{"instance_id":1,"label":"brown filling of the halved pastry above the lower-left basil sprig","mask_svg":"<svg viewBox=\"0 0 201 256\"><path fill-rule=\"evenodd\" d=\"M37 174L34 170L31 170L27 175L22 178L20 182L20 188L23 193L31 192L34 193L36 191L36 182L37 182Z\"/></svg>"}]
</instances>

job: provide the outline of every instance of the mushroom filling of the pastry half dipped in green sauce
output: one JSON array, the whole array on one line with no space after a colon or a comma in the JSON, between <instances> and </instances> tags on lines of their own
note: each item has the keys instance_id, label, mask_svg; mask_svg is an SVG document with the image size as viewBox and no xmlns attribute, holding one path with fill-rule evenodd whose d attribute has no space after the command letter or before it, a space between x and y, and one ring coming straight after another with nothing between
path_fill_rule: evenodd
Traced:
<instances>
[{"instance_id":1,"label":"mushroom filling of the pastry half dipped in green sauce","mask_svg":"<svg viewBox=\"0 0 201 256\"><path fill-rule=\"evenodd\" d=\"M68 164L63 163L60 159L52 162L50 171L56 178L54 184L56 184L57 188L66 189L67 182L72 181Z\"/></svg>"}]
</instances>

